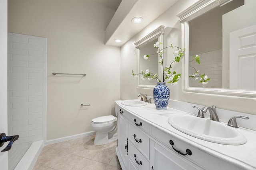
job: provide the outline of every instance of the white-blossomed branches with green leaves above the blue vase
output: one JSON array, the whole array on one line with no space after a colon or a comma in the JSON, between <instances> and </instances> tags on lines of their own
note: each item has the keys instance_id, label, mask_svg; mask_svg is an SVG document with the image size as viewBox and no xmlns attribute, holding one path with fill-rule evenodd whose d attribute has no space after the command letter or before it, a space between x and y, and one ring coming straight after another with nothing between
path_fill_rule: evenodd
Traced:
<instances>
[{"instance_id":1,"label":"white-blossomed branches with green leaves above the blue vase","mask_svg":"<svg viewBox=\"0 0 256 170\"><path fill-rule=\"evenodd\" d=\"M180 59L182 58L182 56L184 56L184 53L185 53L185 49L182 49L180 47L176 47L174 45L170 45L168 47L165 47L163 49L160 49L160 45L162 43L159 43L158 41L154 44L154 47L157 48L157 51L156 53L152 54L152 55L155 55L155 54L158 54L158 57L160 58L159 62L160 65L162 66L162 70L163 70L163 80L161 81L159 78L158 78L158 74L153 74L152 72L150 72L149 69L147 69L146 71L142 71L141 73L138 73L138 74L134 74L133 70L132 70L132 76L133 77L137 77L139 75L141 75L141 78L142 80L144 80L145 78L147 78L148 80L150 79L155 79L157 80L157 82L165 82L167 81L168 83L172 84L172 85L175 85L175 84L178 84L178 80L180 79L181 77L181 74L180 73L176 73L176 71L172 71L172 64L173 63L179 63L180 62ZM174 57L174 61L172 63L170 63L169 65L167 65L166 67L164 67L164 60L163 60L163 53L164 53L164 49L166 48L172 48L172 49L178 49L177 51L174 51L173 53L173 57ZM144 59L147 60L151 55L144 55ZM199 55L195 55L193 56L193 59L192 61L196 61L196 63L200 64L200 57ZM190 61L190 62L192 62ZM194 68L192 66L190 66L191 68ZM195 74L190 74L189 77L190 78L195 78L195 80L198 80L200 78L200 81L199 83L202 83L202 84L207 84L208 81L210 80L210 78L208 78L207 75L205 74L200 74L199 73L199 70L196 70L196 68L194 68L195 70ZM166 74L164 76L164 73Z\"/></svg>"}]
</instances>

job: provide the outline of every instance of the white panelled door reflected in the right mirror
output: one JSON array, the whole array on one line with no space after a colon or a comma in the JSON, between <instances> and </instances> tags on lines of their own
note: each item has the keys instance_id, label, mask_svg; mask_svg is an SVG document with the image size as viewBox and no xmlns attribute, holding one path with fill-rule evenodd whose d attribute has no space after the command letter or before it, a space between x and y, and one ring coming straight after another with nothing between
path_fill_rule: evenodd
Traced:
<instances>
[{"instance_id":1,"label":"white panelled door reflected in the right mirror","mask_svg":"<svg viewBox=\"0 0 256 170\"><path fill-rule=\"evenodd\" d=\"M230 88L256 90L256 25L230 33Z\"/></svg>"}]
</instances>

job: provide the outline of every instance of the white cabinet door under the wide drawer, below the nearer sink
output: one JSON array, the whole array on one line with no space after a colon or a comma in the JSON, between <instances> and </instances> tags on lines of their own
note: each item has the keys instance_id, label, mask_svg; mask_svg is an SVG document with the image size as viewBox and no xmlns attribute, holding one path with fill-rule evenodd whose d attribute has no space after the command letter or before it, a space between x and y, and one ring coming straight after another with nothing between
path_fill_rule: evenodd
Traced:
<instances>
[{"instance_id":1,"label":"white cabinet door under the wide drawer, below the nearer sink","mask_svg":"<svg viewBox=\"0 0 256 170\"><path fill-rule=\"evenodd\" d=\"M151 141L150 167L152 170L202 170L182 155Z\"/></svg>"}]
</instances>

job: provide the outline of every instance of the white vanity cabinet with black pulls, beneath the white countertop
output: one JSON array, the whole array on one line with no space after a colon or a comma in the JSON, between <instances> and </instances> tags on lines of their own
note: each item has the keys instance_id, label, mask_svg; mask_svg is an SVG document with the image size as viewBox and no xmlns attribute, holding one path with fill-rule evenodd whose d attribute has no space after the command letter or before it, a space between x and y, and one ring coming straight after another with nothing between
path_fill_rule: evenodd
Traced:
<instances>
[{"instance_id":1,"label":"white vanity cabinet with black pulls, beneath the white countertop","mask_svg":"<svg viewBox=\"0 0 256 170\"><path fill-rule=\"evenodd\" d=\"M185 143L154 120L147 121L121 104L118 105L116 154L123 170L243 169L227 162L228 157L220 159L204 152L200 145L194 147L188 141Z\"/></svg>"}]
</instances>

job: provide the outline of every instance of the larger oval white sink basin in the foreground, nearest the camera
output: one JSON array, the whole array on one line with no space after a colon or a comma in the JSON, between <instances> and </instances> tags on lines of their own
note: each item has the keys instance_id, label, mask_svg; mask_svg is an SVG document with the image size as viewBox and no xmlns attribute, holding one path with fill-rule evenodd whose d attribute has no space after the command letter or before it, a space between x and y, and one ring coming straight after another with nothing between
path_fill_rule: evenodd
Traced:
<instances>
[{"instance_id":1,"label":"larger oval white sink basin in the foreground, nearest the camera","mask_svg":"<svg viewBox=\"0 0 256 170\"><path fill-rule=\"evenodd\" d=\"M225 145L242 145L246 138L238 129L223 123L192 115L172 115L168 123L187 135Z\"/></svg>"}]
</instances>

